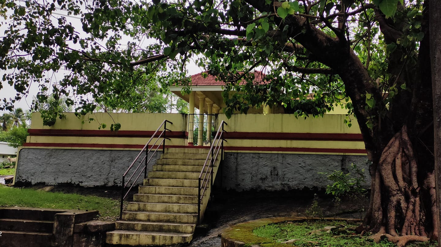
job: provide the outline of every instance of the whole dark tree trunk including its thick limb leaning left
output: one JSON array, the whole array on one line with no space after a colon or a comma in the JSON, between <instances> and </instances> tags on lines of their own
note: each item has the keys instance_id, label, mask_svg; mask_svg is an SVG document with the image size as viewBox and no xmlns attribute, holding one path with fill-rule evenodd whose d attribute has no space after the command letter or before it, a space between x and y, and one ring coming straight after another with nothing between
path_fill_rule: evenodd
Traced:
<instances>
[{"instance_id":1,"label":"whole dark tree trunk including its thick limb leaning left","mask_svg":"<svg viewBox=\"0 0 441 247\"><path fill-rule=\"evenodd\" d=\"M264 1L246 1L261 12L274 9ZM427 21L427 17L427 11L423 12L423 19ZM401 61L408 55L406 49L397 49L398 53L389 60L387 72L392 74L393 80L390 86L395 82L398 87L405 83L410 92L402 91L402 95L392 98L386 107L383 92L344 37L331 37L300 16L288 15L284 22L280 19L280 29L288 26L288 36L308 49L317 61L336 71L344 82L372 161L371 198L364 225L366 230L377 233L374 240L386 237L399 246L408 241L427 241L437 236L438 229L437 214L434 214L433 133L430 130L433 108L426 21L422 23L426 36L420 44L419 66ZM401 30L389 26L388 30L391 29ZM400 36L385 33L385 37L392 37L389 40L396 42ZM373 108L366 107L366 92L377 102ZM373 124L372 128L368 128L367 121Z\"/></svg>"}]
</instances>

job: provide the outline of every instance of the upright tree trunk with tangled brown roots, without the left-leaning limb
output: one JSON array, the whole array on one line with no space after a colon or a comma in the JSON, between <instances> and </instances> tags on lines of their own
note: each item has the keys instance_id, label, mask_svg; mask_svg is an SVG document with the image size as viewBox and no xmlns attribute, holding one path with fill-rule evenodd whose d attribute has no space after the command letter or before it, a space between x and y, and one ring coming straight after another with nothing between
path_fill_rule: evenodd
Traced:
<instances>
[{"instance_id":1,"label":"upright tree trunk with tangled brown roots, without the left-leaning limb","mask_svg":"<svg viewBox=\"0 0 441 247\"><path fill-rule=\"evenodd\" d=\"M385 237L398 246L404 246L408 241L437 239L439 229L431 129L433 107L427 4L428 1L423 12L425 37L420 43L418 66L406 68L407 65L396 64L405 67L409 74L396 77L397 84L406 83L411 87L411 94L392 99L395 112L383 122L393 125L397 131L381 150L377 166L373 165L370 170L371 201L364 224L367 229L377 232L374 240ZM390 134L390 131L384 133L377 129L375 135L386 137Z\"/></svg>"}]
</instances>

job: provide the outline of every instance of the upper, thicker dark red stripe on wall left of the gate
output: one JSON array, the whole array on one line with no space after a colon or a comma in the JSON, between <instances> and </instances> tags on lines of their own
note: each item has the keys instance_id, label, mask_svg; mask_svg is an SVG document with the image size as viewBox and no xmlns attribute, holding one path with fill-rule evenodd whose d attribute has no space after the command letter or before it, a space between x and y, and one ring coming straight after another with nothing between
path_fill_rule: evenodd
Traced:
<instances>
[{"instance_id":1,"label":"upper, thicker dark red stripe on wall left of the gate","mask_svg":"<svg viewBox=\"0 0 441 247\"><path fill-rule=\"evenodd\" d=\"M161 134L158 131L156 136ZM94 137L151 137L154 131L142 130L86 130L86 129L28 129L30 136L94 136ZM183 131L167 131L167 137L185 139Z\"/></svg>"}]
</instances>

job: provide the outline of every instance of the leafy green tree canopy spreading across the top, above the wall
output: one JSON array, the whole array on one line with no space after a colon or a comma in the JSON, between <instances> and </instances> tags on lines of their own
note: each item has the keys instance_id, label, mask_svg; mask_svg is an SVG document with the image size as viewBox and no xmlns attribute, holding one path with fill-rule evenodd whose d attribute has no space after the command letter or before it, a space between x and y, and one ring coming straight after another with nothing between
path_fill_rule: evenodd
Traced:
<instances>
[{"instance_id":1,"label":"leafy green tree canopy spreading across the top, above the wall","mask_svg":"<svg viewBox=\"0 0 441 247\"><path fill-rule=\"evenodd\" d=\"M263 104L317 116L343 103L350 113L340 74L320 56L329 50L313 49L320 48L320 40L308 43L302 37L317 29L329 39L346 40L370 76L384 84L385 53L394 47L379 39L376 16L381 11L386 18L396 15L399 1L2 0L6 17L0 22L5 30L0 39L1 80L17 94L3 99L0 109L12 110L30 85L37 84L34 110L53 106L43 112L47 125L62 117L64 109L54 107L59 101L78 115L100 105L136 112L151 90L165 92L187 81L185 66L194 59L228 82L227 115ZM422 39L422 8L405 4L400 15L412 21L403 29L413 33L403 36L401 44L415 47ZM293 22L295 18L303 18L298 19L303 26ZM262 83L253 84L253 75L246 73L255 68L267 74ZM239 85L240 81L248 83ZM405 89L390 86L393 92ZM378 103L369 92L364 96L366 108ZM305 101L302 105L293 99Z\"/></svg>"}]
</instances>

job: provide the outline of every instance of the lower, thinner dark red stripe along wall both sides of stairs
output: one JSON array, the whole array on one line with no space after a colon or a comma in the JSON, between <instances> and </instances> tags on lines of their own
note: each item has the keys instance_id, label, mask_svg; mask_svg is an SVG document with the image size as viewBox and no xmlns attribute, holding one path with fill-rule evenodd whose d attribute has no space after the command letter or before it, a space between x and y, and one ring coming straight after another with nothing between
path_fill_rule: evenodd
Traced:
<instances>
[{"instance_id":1,"label":"lower, thinner dark red stripe along wall both sides of stairs","mask_svg":"<svg viewBox=\"0 0 441 247\"><path fill-rule=\"evenodd\" d=\"M79 147L79 148L134 148L141 149L144 145L137 144L87 144L87 143L25 143L24 147ZM151 146L149 146L151 147ZM157 146L155 146L156 148ZM178 148L209 148L208 146L178 146L166 145L166 147ZM161 149L161 147L159 147ZM364 149L345 148L312 148L312 147L224 147L225 151L281 151L281 152L309 152L309 153L351 153L365 154Z\"/></svg>"}]
</instances>

